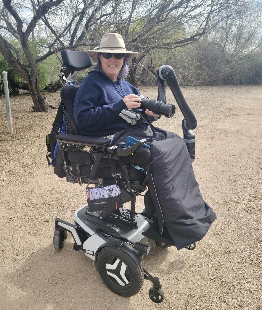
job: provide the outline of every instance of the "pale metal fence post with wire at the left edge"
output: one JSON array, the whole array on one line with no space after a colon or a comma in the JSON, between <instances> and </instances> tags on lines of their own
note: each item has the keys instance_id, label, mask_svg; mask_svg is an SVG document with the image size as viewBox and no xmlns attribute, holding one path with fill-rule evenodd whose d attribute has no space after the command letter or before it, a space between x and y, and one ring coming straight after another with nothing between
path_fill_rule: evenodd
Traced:
<instances>
[{"instance_id":1,"label":"pale metal fence post with wire at the left edge","mask_svg":"<svg viewBox=\"0 0 262 310\"><path fill-rule=\"evenodd\" d=\"M11 107L9 99L9 90L7 82L7 72L3 71L0 73L0 113L7 115L8 131L9 134L13 134L13 125L11 117Z\"/></svg>"}]
</instances>

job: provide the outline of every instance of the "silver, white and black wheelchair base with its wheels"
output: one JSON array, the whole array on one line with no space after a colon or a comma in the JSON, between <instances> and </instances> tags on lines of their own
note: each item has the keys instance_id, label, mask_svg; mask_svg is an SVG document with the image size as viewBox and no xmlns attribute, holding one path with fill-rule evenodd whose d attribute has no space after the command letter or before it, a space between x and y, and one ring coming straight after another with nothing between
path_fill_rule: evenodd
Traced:
<instances>
[{"instance_id":1,"label":"silver, white and black wheelchair base with its wheels","mask_svg":"<svg viewBox=\"0 0 262 310\"><path fill-rule=\"evenodd\" d=\"M138 213L135 215L136 228L133 228L121 221L122 212L103 221L99 219L98 212L91 213L87 207L85 205L75 211L75 224L55 219L55 249L59 251L63 248L67 232L70 232L75 241L73 249L83 250L94 260L109 289L129 297L140 290L146 279L153 283L148 293L150 299L156 303L162 302L164 293L158 277L152 277L142 268L141 261L151 248L156 247L156 241L142 235L150 227L151 219Z\"/></svg>"}]
</instances>

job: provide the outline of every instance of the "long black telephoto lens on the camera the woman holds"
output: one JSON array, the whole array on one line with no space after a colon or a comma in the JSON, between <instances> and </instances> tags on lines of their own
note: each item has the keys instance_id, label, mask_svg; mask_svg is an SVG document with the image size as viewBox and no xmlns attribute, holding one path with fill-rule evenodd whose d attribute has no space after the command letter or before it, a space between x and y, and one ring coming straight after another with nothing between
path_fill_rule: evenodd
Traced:
<instances>
[{"instance_id":1,"label":"long black telephoto lens on the camera the woman holds","mask_svg":"<svg viewBox=\"0 0 262 310\"><path fill-rule=\"evenodd\" d=\"M139 96L141 101L142 110L148 109L155 114L161 114L165 117L171 118L175 114L175 106L174 104L166 104L162 101L152 100L150 98L145 98L144 96Z\"/></svg>"}]
</instances>

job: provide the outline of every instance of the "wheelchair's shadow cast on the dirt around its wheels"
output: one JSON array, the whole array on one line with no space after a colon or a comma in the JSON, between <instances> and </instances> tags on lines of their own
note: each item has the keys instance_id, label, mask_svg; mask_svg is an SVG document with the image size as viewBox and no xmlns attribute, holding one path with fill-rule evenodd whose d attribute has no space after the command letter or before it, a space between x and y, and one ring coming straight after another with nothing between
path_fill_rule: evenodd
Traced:
<instances>
[{"instance_id":1,"label":"wheelchair's shadow cast on the dirt around its wheels","mask_svg":"<svg viewBox=\"0 0 262 310\"><path fill-rule=\"evenodd\" d=\"M111 292L95 271L93 261L83 251L74 251L72 245L67 242L60 252L47 246L34 252L18 270L6 273L2 291L7 301L5 309L132 309L130 298ZM151 250L145 268L149 272L152 267L157 270L167 254L166 249ZM147 294L144 297L149 299Z\"/></svg>"}]
</instances>

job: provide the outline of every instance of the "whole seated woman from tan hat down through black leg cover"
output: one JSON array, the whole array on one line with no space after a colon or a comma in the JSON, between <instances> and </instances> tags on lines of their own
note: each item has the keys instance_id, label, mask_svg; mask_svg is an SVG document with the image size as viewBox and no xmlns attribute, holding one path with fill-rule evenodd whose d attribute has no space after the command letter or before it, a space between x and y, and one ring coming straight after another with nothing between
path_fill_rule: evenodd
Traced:
<instances>
[{"instance_id":1,"label":"whole seated woman from tan hat down through black leg cover","mask_svg":"<svg viewBox=\"0 0 262 310\"><path fill-rule=\"evenodd\" d=\"M97 60L97 66L84 79L75 97L74 116L80 134L115 135L113 144L120 136L125 139L129 135L150 141L153 132L147 122L140 120L132 126L119 116L123 109L141 105L138 89L124 81L128 58L135 58L138 53L126 51L124 40L117 33L106 33L99 48L87 53ZM146 114L152 121L159 116L148 110ZM216 215L199 191L185 142L172 132L166 135L158 134L147 142L152 158L147 182L159 231L163 232L165 222L179 250L200 240Z\"/></svg>"}]
</instances>

